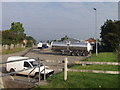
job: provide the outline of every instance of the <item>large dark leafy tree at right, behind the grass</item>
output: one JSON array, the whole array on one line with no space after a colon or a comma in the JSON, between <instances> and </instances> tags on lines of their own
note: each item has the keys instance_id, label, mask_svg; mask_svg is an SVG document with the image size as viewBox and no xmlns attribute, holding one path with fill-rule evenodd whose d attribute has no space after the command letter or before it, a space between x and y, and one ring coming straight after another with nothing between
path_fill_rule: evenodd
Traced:
<instances>
[{"instance_id":1,"label":"large dark leafy tree at right, behind the grass","mask_svg":"<svg viewBox=\"0 0 120 90\"><path fill-rule=\"evenodd\" d=\"M101 41L109 51L117 51L120 45L120 21L107 20L101 27Z\"/></svg>"}]
</instances>

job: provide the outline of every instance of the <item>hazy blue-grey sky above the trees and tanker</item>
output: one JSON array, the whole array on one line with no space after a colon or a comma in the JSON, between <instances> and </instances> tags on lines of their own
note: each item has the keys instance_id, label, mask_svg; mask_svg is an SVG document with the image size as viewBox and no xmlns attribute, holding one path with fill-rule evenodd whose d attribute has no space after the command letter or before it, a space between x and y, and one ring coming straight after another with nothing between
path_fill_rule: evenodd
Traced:
<instances>
[{"instance_id":1,"label":"hazy blue-grey sky above the trees and tanker","mask_svg":"<svg viewBox=\"0 0 120 90\"><path fill-rule=\"evenodd\" d=\"M71 38L95 38L107 19L118 20L117 2L2 2L2 30L12 22L21 22L27 35L37 41Z\"/></svg>"}]
</instances>

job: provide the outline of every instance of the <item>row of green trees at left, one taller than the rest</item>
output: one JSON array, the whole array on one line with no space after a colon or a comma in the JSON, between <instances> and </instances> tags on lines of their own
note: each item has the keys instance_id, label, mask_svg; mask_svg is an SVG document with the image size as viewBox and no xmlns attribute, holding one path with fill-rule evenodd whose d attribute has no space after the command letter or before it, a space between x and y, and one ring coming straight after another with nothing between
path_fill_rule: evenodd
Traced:
<instances>
[{"instance_id":1,"label":"row of green trees at left, one taller than the rest","mask_svg":"<svg viewBox=\"0 0 120 90\"><path fill-rule=\"evenodd\" d=\"M25 44L23 40L27 41L27 47L31 47L33 44L36 44L36 40L32 36L27 36L24 32L25 29L22 23L11 23L9 30L2 31L2 45Z\"/></svg>"}]
</instances>

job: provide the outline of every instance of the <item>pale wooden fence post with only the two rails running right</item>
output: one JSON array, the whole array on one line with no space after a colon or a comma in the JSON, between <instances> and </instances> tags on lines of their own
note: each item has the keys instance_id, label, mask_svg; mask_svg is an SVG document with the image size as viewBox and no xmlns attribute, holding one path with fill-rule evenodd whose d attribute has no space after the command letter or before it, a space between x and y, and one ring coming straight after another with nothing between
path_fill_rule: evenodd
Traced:
<instances>
[{"instance_id":1,"label":"pale wooden fence post with only the two rails running right","mask_svg":"<svg viewBox=\"0 0 120 90\"><path fill-rule=\"evenodd\" d=\"M72 62L74 64L98 64L98 65L120 65L120 63L116 62L83 62L83 61L75 61ZM64 80L67 80L67 71L72 72L92 72L92 73L106 73L106 74L120 74L120 71L102 71L102 70L78 70L78 69L68 69L67 68L68 60L64 59Z\"/></svg>"}]
</instances>

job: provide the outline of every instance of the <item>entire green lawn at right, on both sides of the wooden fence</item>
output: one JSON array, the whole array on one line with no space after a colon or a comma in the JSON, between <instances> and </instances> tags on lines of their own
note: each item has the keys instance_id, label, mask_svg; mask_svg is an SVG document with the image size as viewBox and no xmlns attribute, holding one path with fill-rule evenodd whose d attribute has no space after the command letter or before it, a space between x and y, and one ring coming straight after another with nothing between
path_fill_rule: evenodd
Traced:
<instances>
[{"instance_id":1,"label":"entire green lawn at right, on both sides of the wooden fence","mask_svg":"<svg viewBox=\"0 0 120 90\"><path fill-rule=\"evenodd\" d=\"M100 53L93 55L91 59L85 61L117 62L114 53ZM87 70L107 70L118 71L118 66L114 65L74 65L71 69ZM89 72L68 72L68 80L63 80L63 72L48 78L49 84L37 87L40 88L119 88L119 75L98 74Z\"/></svg>"}]
</instances>

